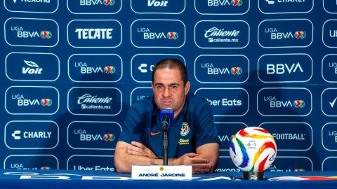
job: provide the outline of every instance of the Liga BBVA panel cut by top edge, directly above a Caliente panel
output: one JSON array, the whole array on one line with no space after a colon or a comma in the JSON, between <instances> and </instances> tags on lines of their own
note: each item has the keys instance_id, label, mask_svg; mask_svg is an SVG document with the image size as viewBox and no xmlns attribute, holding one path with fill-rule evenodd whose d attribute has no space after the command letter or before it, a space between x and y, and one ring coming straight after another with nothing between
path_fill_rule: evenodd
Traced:
<instances>
[{"instance_id":1,"label":"Liga BBVA panel cut by top edge, directly above a Caliente panel","mask_svg":"<svg viewBox=\"0 0 337 189\"><path fill-rule=\"evenodd\" d=\"M249 10L250 0L194 0L194 5L201 15L243 15Z\"/></svg>"}]
</instances>

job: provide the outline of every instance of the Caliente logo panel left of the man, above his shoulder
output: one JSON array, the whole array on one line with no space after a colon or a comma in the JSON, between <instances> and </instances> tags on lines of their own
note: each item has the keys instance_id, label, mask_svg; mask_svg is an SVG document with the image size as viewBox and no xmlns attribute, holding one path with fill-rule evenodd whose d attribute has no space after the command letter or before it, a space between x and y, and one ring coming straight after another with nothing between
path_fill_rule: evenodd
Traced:
<instances>
[{"instance_id":1,"label":"Caliente logo panel left of the man, above his shoulder","mask_svg":"<svg viewBox=\"0 0 337 189\"><path fill-rule=\"evenodd\" d=\"M114 87L73 87L68 109L74 115L115 116L121 112L121 91Z\"/></svg>"}]
</instances>

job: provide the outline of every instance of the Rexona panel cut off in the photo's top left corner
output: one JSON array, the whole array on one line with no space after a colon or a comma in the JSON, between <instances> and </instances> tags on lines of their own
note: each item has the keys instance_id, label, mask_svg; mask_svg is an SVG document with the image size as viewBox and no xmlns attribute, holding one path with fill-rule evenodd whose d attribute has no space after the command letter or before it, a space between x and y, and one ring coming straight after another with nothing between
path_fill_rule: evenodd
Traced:
<instances>
[{"instance_id":1,"label":"Rexona panel cut off in the photo's top left corner","mask_svg":"<svg viewBox=\"0 0 337 189\"><path fill-rule=\"evenodd\" d=\"M19 13L54 13L58 10L59 0L4 0L5 8Z\"/></svg>"}]
</instances>

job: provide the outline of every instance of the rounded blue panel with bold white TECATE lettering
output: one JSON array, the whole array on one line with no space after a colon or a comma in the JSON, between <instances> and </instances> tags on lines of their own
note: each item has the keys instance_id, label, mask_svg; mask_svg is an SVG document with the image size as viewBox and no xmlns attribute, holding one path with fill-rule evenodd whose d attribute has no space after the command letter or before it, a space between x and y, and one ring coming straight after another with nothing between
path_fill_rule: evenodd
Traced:
<instances>
[{"instance_id":1,"label":"rounded blue panel with bold white TECATE lettering","mask_svg":"<svg viewBox=\"0 0 337 189\"><path fill-rule=\"evenodd\" d=\"M116 48L121 44L121 23L117 20L72 20L67 32L73 47Z\"/></svg>"}]
</instances>

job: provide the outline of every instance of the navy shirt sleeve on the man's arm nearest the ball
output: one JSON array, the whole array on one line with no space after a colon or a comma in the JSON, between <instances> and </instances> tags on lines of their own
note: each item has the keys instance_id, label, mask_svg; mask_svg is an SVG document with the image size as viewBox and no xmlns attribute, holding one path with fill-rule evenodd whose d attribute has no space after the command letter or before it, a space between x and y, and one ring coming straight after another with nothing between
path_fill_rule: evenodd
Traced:
<instances>
[{"instance_id":1,"label":"navy shirt sleeve on the man's arm nearest the ball","mask_svg":"<svg viewBox=\"0 0 337 189\"><path fill-rule=\"evenodd\" d=\"M213 112L211 106L207 103L201 103L202 106L196 111L196 148L209 143L218 143L218 131L214 125Z\"/></svg>"}]
</instances>

